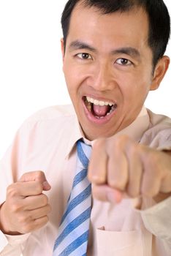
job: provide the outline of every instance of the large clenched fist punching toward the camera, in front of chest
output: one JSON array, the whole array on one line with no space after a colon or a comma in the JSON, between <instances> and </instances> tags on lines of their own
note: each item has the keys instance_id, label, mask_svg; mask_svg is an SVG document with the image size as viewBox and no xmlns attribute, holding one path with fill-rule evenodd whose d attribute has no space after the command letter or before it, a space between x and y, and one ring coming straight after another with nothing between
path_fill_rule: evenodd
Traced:
<instances>
[{"instance_id":1,"label":"large clenched fist punching toward the camera, in front of chest","mask_svg":"<svg viewBox=\"0 0 171 256\"><path fill-rule=\"evenodd\" d=\"M93 195L120 202L129 197L158 197L171 192L171 155L134 142L125 135L96 140L88 167ZM168 194L167 194L168 193Z\"/></svg>"}]
</instances>

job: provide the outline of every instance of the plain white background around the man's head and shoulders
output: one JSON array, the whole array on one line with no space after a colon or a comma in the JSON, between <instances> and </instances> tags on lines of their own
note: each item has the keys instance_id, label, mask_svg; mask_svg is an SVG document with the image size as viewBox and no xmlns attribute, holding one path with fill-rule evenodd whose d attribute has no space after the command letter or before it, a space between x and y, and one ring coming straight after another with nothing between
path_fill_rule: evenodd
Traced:
<instances>
[{"instance_id":1,"label":"plain white background around the man's head and shoulders","mask_svg":"<svg viewBox=\"0 0 171 256\"><path fill-rule=\"evenodd\" d=\"M70 102L60 39L64 0L0 0L0 158L24 119ZM171 13L171 1L165 0ZM171 43L167 48L171 57ZM171 117L171 66L145 105Z\"/></svg>"}]
</instances>

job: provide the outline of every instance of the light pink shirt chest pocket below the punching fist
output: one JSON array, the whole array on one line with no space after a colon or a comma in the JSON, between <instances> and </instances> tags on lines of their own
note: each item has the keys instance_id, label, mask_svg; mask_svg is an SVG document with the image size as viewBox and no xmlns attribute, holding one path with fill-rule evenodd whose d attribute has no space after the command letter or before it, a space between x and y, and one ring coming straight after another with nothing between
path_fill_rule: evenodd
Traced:
<instances>
[{"instance_id":1,"label":"light pink shirt chest pocket below the punching fist","mask_svg":"<svg viewBox=\"0 0 171 256\"><path fill-rule=\"evenodd\" d=\"M133 231L96 230L98 256L144 256L142 233Z\"/></svg>"}]
</instances>

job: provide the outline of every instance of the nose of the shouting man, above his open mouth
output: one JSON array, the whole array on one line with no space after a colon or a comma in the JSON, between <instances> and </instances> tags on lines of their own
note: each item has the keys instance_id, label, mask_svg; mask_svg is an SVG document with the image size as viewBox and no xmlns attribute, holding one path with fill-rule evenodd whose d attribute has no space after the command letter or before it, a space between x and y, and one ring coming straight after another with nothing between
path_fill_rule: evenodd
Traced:
<instances>
[{"instance_id":1,"label":"nose of the shouting man, above his open mouth","mask_svg":"<svg viewBox=\"0 0 171 256\"><path fill-rule=\"evenodd\" d=\"M112 67L105 61L94 66L91 72L91 84L96 91L110 91L115 86Z\"/></svg>"}]
</instances>

